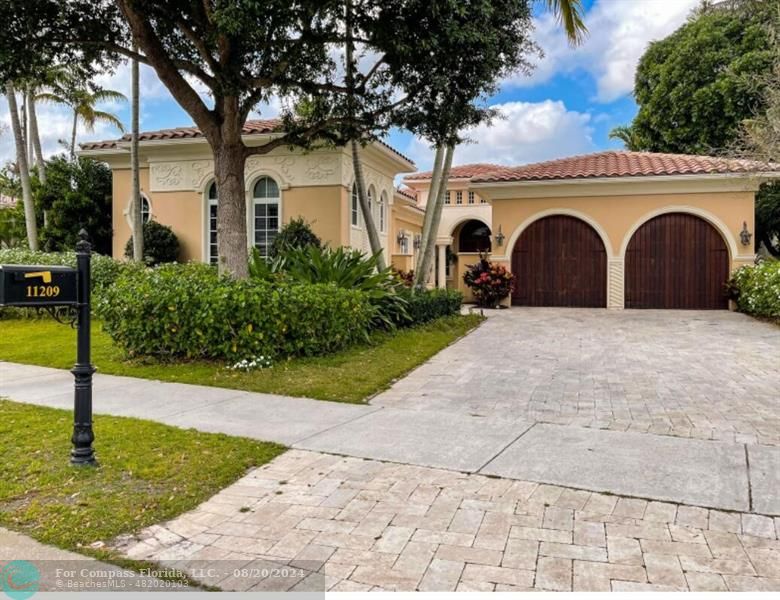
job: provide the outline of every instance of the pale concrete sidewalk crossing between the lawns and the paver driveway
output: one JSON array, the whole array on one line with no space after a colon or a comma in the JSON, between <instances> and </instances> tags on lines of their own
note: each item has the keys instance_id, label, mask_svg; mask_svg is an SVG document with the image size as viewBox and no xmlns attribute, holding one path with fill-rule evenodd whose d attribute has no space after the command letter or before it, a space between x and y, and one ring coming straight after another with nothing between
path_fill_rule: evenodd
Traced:
<instances>
[{"instance_id":1,"label":"pale concrete sidewalk crossing between the lawns and the paver driveway","mask_svg":"<svg viewBox=\"0 0 780 600\"><path fill-rule=\"evenodd\" d=\"M71 408L72 383L67 371L0 362L0 396L19 402ZM780 515L777 447L101 374L94 408L306 450ZM99 453L99 419L96 434Z\"/></svg>"}]
</instances>

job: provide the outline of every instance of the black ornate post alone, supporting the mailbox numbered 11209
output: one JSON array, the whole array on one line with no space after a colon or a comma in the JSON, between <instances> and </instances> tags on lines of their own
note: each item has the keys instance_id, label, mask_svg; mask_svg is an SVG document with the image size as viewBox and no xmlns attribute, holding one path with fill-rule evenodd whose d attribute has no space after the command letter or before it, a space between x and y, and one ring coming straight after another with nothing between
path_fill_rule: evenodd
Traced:
<instances>
[{"instance_id":1,"label":"black ornate post alone, supporting the mailbox numbered 11209","mask_svg":"<svg viewBox=\"0 0 780 600\"><path fill-rule=\"evenodd\" d=\"M92 245L87 232L79 231L79 241L76 243L76 269L78 271L78 310L76 364L71 369L75 379L73 400L73 450L70 462L74 465L95 464L95 450L92 442L95 434L92 431L92 375L95 367L92 364L90 348L90 297L92 282Z\"/></svg>"}]
</instances>

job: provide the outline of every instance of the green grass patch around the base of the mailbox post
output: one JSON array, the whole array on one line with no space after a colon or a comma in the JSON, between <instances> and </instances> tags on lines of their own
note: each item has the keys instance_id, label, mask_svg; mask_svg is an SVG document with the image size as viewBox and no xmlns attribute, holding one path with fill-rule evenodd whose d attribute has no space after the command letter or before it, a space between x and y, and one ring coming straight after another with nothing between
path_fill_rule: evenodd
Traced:
<instances>
[{"instance_id":1,"label":"green grass patch around the base of the mailbox post","mask_svg":"<svg viewBox=\"0 0 780 600\"><path fill-rule=\"evenodd\" d=\"M128 567L91 548L196 507L277 444L122 417L95 418L99 466L68 463L72 413L0 399L0 526Z\"/></svg>"}]
</instances>

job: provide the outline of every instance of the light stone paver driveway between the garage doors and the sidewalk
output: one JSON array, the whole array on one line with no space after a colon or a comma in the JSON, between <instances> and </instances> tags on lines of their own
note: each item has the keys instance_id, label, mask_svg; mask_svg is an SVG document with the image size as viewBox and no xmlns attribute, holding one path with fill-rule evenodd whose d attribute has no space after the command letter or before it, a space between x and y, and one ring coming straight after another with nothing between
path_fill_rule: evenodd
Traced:
<instances>
[{"instance_id":1,"label":"light stone paver driveway between the garage doors and the sidewalk","mask_svg":"<svg viewBox=\"0 0 780 600\"><path fill-rule=\"evenodd\" d=\"M777 446L778 351L726 311L513 308L371 403Z\"/></svg>"}]
</instances>

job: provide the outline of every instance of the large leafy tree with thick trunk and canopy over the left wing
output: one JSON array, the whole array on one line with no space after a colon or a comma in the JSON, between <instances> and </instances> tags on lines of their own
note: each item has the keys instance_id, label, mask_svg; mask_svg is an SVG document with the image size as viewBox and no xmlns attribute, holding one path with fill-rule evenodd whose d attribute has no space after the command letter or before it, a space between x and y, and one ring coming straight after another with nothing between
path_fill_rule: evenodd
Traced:
<instances>
[{"instance_id":1,"label":"large leafy tree with thick trunk and canopy over the left wing","mask_svg":"<svg viewBox=\"0 0 780 600\"><path fill-rule=\"evenodd\" d=\"M6 2L0 79L57 60L88 71L125 57L154 68L211 146L220 269L245 276L247 157L366 141L392 126L429 139L452 136L443 123L453 115L479 122L486 109L473 100L525 64L528 0L349 1L349 28L345 0ZM353 86L344 81L348 43L362 67ZM246 146L242 125L273 96L286 107L284 131Z\"/></svg>"}]
</instances>

